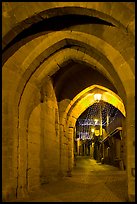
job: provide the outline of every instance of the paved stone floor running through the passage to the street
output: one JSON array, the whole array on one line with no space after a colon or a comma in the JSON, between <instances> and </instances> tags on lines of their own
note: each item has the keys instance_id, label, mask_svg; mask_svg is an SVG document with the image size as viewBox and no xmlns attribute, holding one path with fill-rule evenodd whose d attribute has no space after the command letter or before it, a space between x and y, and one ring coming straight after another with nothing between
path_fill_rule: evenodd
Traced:
<instances>
[{"instance_id":1,"label":"paved stone floor running through the passage to the street","mask_svg":"<svg viewBox=\"0 0 137 204\"><path fill-rule=\"evenodd\" d=\"M46 184L22 202L127 202L126 172L78 157L72 177Z\"/></svg>"}]
</instances>

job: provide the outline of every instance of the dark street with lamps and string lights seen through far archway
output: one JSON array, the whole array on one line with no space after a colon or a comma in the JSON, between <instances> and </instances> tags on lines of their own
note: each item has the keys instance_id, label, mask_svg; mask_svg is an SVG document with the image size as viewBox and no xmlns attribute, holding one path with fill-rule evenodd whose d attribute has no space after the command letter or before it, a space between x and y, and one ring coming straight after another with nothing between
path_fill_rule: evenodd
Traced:
<instances>
[{"instance_id":1,"label":"dark street with lamps and string lights seen through far archway","mask_svg":"<svg viewBox=\"0 0 137 204\"><path fill-rule=\"evenodd\" d=\"M124 118L120 110L103 101L86 109L76 122L75 156L89 156L102 164L125 170L126 139L122 132Z\"/></svg>"}]
</instances>

